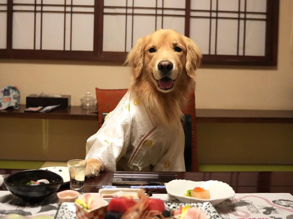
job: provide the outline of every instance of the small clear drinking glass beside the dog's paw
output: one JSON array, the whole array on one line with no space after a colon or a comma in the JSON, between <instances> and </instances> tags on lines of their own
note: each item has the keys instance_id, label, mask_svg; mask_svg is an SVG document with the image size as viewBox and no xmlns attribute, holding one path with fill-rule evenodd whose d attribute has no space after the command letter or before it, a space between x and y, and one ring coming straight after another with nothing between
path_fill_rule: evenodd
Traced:
<instances>
[{"instance_id":1,"label":"small clear drinking glass beside the dog's paw","mask_svg":"<svg viewBox=\"0 0 293 219\"><path fill-rule=\"evenodd\" d=\"M83 193L85 182L86 160L70 160L67 162L70 175L70 189Z\"/></svg>"}]
</instances>

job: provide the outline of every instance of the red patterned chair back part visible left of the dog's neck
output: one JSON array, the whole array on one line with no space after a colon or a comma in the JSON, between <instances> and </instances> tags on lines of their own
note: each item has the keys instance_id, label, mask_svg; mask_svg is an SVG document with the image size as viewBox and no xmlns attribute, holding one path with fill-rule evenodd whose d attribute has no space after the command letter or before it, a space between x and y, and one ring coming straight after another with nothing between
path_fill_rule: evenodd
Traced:
<instances>
[{"instance_id":1,"label":"red patterned chair back part visible left of the dog's neck","mask_svg":"<svg viewBox=\"0 0 293 219\"><path fill-rule=\"evenodd\" d=\"M102 126L103 113L110 113L126 94L127 89L99 89L96 88L99 127Z\"/></svg>"}]
</instances>

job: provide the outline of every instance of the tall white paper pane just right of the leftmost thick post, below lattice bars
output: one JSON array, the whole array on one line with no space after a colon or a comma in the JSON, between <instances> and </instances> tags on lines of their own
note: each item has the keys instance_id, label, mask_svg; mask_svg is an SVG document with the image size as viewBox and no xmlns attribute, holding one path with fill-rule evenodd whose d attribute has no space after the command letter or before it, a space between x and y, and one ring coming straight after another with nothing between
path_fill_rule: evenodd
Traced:
<instances>
[{"instance_id":1,"label":"tall white paper pane just right of the leftmost thick post, below lattice bars","mask_svg":"<svg viewBox=\"0 0 293 219\"><path fill-rule=\"evenodd\" d=\"M13 49L34 48L34 13L14 12L12 29Z\"/></svg>"}]
</instances>

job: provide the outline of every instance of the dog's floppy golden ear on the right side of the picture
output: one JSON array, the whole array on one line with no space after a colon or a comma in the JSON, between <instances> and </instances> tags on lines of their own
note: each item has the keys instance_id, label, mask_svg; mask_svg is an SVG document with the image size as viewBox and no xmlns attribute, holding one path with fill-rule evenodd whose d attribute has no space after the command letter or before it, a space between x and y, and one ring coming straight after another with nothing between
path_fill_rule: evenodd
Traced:
<instances>
[{"instance_id":1,"label":"dog's floppy golden ear on the right side of the picture","mask_svg":"<svg viewBox=\"0 0 293 219\"><path fill-rule=\"evenodd\" d=\"M201 50L188 37L185 37L186 42L186 72L190 78L195 78L195 70L201 64Z\"/></svg>"}]
</instances>

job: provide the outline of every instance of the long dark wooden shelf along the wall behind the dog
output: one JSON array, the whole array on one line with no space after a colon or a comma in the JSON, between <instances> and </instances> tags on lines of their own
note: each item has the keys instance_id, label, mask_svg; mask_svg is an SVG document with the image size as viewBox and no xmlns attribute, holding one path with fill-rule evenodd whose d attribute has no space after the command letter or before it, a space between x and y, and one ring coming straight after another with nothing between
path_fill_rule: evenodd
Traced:
<instances>
[{"instance_id":1,"label":"long dark wooden shelf along the wall behind the dog","mask_svg":"<svg viewBox=\"0 0 293 219\"><path fill-rule=\"evenodd\" d=\"M50 113L26 113L26 106L19 109L0 110L0 117L26 119L98 120L96 113L81 106L70 109L55 109ZM196 109L198 123L293 123L293 110L252 109Z\"/></svg>"}]
</instances>

